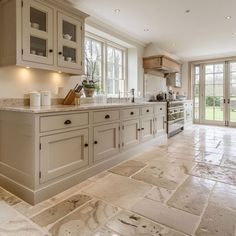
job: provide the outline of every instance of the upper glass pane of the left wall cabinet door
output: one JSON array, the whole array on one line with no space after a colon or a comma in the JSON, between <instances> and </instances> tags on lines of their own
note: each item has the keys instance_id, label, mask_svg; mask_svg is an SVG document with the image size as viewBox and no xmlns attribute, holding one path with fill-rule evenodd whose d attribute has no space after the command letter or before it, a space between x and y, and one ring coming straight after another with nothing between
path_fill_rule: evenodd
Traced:
<instances>
[{"instance_id":1,"label":"upper glass pane of the left wall cabinet door","mask_svg":"<svg viewBox=\"0 0 236 236\"><path fill-rule=\"evenodd\" d=\"M33 7L30 8L31 28L47 31L47 14Z\"/></svg>"}]
</instances>

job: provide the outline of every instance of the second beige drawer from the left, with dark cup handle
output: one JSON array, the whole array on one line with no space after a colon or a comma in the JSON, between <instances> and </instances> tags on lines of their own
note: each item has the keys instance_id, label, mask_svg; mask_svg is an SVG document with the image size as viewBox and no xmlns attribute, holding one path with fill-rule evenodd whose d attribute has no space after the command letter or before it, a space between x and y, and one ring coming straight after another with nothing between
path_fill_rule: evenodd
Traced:
<instances>
[{"instance_id":1,"label":"second beige drawer from the left, with dark cup handle","mask_svg":"<svg viewBox=\"0 0 236 236\"><path fill-rule=\"evenodd\" d=\"M95 111L93 113L93 123L102 123L107 121L116 121L120 119L120 113L117 110L114 111Z\"/></svg>"}]
</instances>

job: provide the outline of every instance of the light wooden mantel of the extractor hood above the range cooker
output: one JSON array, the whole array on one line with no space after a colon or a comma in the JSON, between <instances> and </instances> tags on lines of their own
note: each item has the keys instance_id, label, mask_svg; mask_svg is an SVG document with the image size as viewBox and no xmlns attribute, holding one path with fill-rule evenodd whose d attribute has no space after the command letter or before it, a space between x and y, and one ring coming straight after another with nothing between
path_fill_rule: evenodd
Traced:
<instances>
[{"instance_id":1,"label":"light wooden mantel of the extractor hood above the range cooker","mask_svg":"<svg viewBox=\"0 0 236 236\"><path fill-rule=\"evenodd\" d=\"M181 63L164 55L143 58L143 68L145 73L148 71L160 71L162 73L180 72Z\"/></svg>"}]
</instances>

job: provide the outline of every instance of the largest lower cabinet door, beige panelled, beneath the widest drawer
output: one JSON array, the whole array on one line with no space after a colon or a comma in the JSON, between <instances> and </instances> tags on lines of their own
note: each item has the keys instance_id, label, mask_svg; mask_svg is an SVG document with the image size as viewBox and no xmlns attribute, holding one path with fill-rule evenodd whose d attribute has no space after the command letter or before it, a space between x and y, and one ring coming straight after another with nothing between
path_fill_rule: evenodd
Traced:
<instances>
[{"instance_id":1,"label":"largest lower cabinet door, beige panelled, beneath the widest drawer","mask_svg":"<svg viewBox=\"0 0 236 236\"><path fill-rule=\"evenodd\" d=\"M88 129L41 138L40 183L88 165Z\"/></svg>"}]
</instances>

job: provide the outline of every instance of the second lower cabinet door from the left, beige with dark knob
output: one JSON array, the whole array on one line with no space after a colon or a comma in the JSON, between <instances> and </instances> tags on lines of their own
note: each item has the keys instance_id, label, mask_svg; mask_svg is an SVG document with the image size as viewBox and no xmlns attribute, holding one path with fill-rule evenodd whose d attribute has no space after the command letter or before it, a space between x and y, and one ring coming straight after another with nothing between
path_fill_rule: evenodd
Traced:
<instances>
[{"instance_id":1,"label":"second lower cabinet door from the left, beige with dark knob","mask_svg":"<svg viewBox=\"0 0 236 236\"><path fill-rule=\"evenodd\" d=\"M120 151L119 123L94 127L94 162L99 162Z\"/></svg>"}]
</instances>

